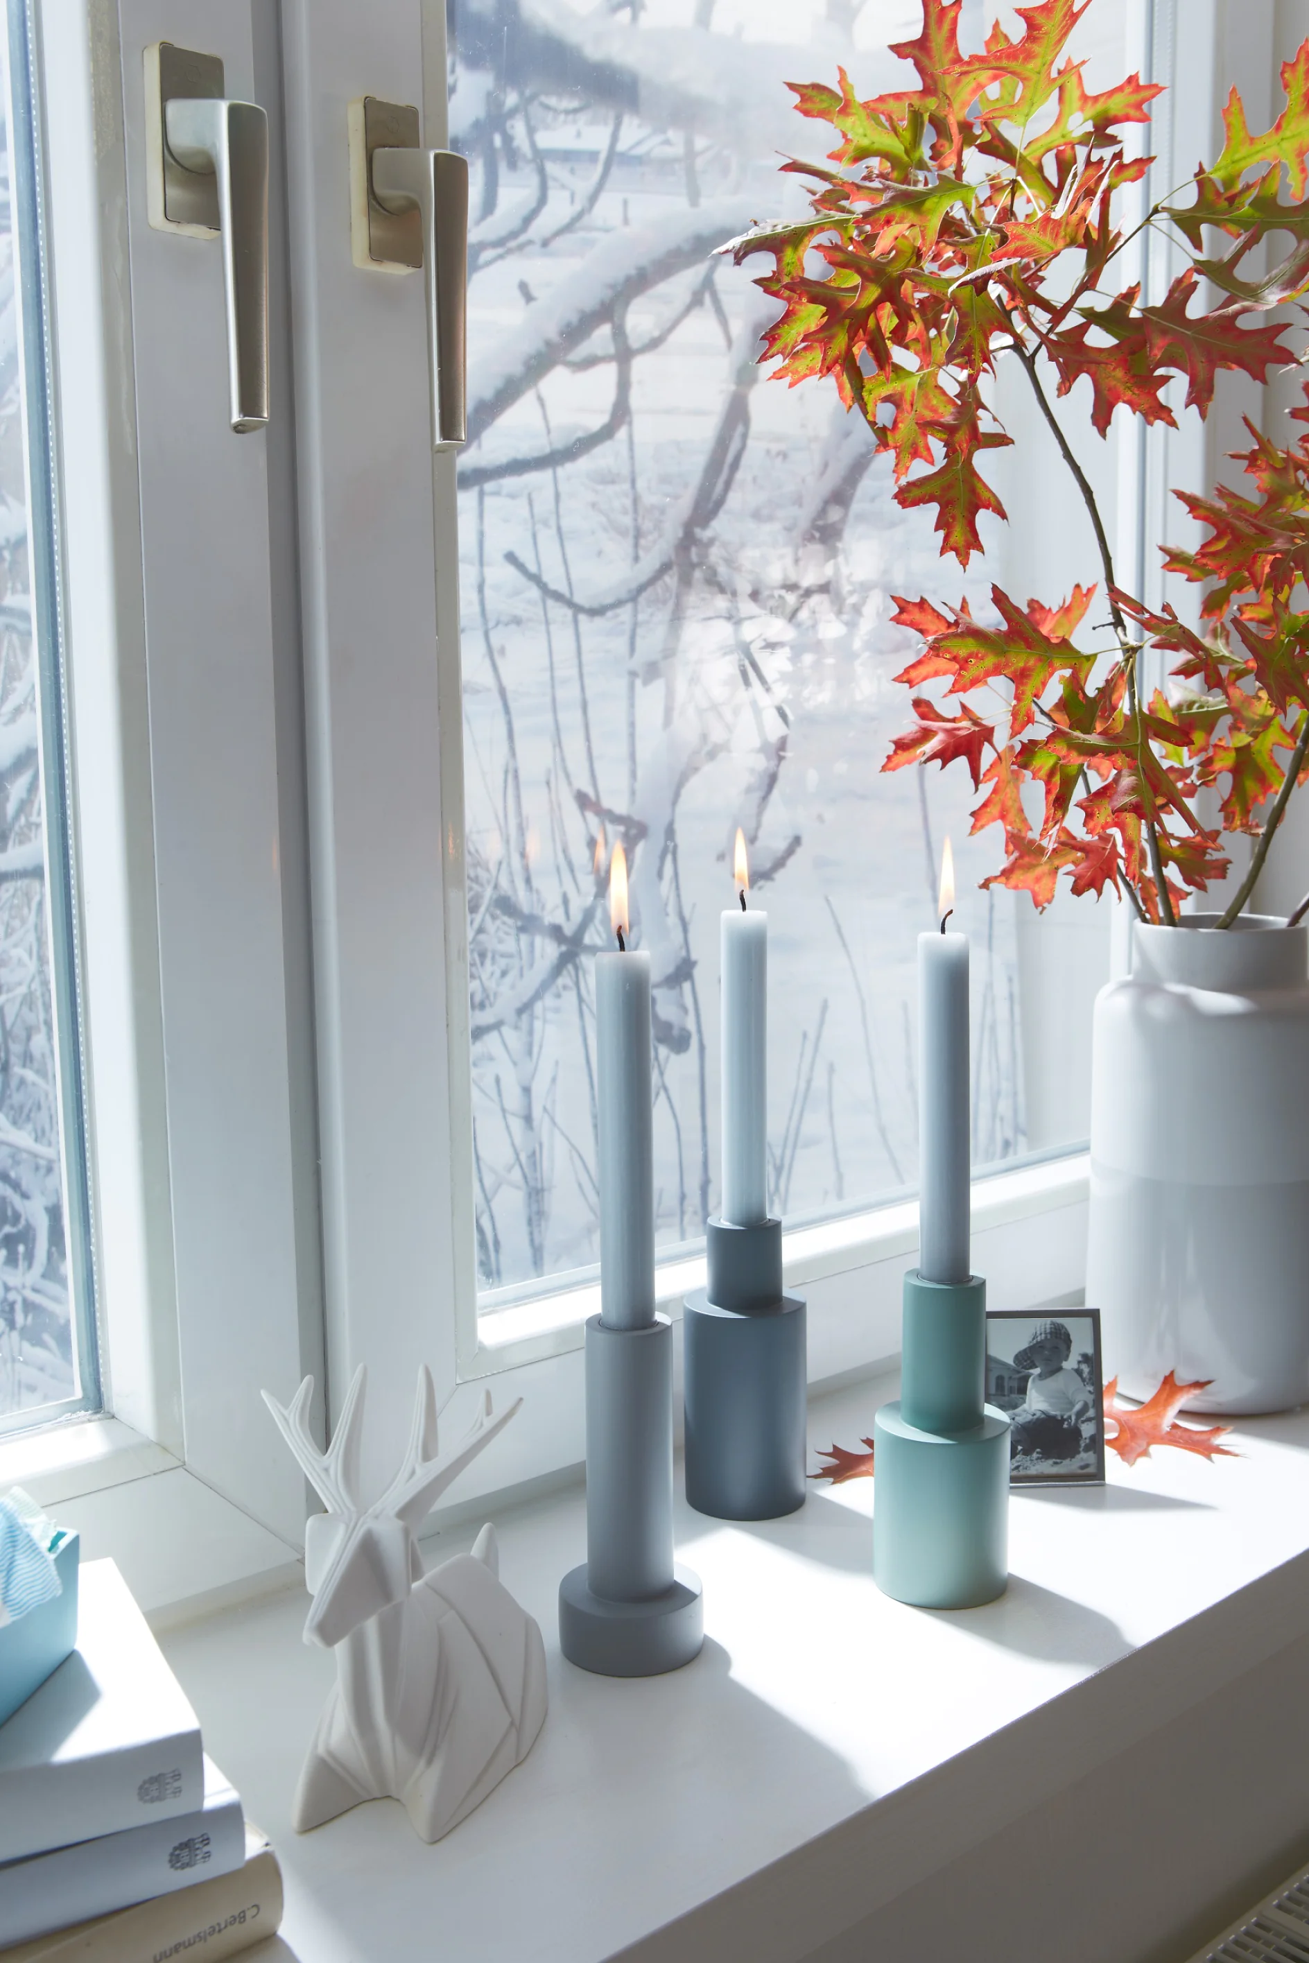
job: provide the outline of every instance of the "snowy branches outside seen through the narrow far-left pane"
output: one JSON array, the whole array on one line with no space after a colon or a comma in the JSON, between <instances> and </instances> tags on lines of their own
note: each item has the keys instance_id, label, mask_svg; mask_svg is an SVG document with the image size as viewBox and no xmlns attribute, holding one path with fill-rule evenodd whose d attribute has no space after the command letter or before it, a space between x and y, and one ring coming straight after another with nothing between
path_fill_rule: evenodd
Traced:
<instances>
[{"instance_id":1,"label":"snowy branches outside seen through the narrow far-left pane","mask_svg":"<svg viewBox=\"0 0 1309 1963\"><path fill-rule=\"evenodd\" d=\"M0 110L0 1421L79 1396L51 997L10 132Z\"/></svg>"}]
</instances>

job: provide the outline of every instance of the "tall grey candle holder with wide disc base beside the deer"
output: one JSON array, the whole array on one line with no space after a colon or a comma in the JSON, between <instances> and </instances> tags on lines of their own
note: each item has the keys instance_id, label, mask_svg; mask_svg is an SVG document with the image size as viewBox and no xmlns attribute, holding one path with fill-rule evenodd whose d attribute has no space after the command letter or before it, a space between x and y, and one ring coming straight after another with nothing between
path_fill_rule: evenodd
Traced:
<instances>
[{"instance_id":1,"label":"tall grey candle holder with wide disc base beside the deer","mask_svg":"<svg viewBox=\"0 0 1309 1963\"><path fill-rule=\"evenodd\" d=\"M559 1649L599 1676L679 1671L705 1641L673 1563L673 1329L587 1323L587 1559L559 1582Z\"/></svg>"}]
</instances>

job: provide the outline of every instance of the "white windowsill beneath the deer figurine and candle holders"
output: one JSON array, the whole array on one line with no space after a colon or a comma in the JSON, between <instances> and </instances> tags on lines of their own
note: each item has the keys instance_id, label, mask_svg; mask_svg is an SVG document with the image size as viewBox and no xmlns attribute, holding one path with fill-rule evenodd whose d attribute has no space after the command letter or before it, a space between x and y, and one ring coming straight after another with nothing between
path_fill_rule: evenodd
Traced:
<instances>
[{"instance_id":1,"label":"white windowsill beneath the deer figurine and candle holders","mask_svg":"<svg viewBox=\"0 0 1309 1963\"><path fill-rule=\"evenodd\" d=\"M854 1445L891 1390L818 1400L811 1445ZM1058 1953L1075 1902L1077 1955L1181 1957L1295 1865L1305 1831L1309 1415L1244 1421L1232 1443L1240 1459L1158 1451L1130 1470L1111 1459L1105 1488L1017 1492L1009 1594L968 1614L877 1592L873 1482L758 1525L679 1506L707 1645L636 1682L559 1657L581 1492L502 1512L500 1572L542 1625L550 1718L434 1847L393 1802L290 1831L334 1680L300 1641L300 1592L165 1649L275 1841L298 1963L422 1955L434 1912L447 1963L999 1957L1005 1902L1062 1928ZM969 1912L999 1916L975 1945Z\"/></svg>"}]
</instances>

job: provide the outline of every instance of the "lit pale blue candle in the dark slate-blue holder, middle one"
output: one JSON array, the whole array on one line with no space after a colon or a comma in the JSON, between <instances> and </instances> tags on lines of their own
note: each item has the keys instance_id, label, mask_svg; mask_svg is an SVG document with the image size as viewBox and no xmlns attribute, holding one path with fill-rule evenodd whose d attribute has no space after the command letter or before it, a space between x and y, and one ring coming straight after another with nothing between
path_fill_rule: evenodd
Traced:
<instances>
[{"instance_id":1,"label":"lit pale blue candle in the dark slate-blue holder, middle one","mask_svg":"<svg viewBox=\"0 0 1309 1963\"><path fill-rule=\"evenodd\" d=\"M750 862L736 832L740 905L722 915L722 1219L767 1219L767 915L746 909Z\"/></svg>"}]
</instances>

